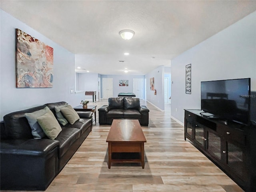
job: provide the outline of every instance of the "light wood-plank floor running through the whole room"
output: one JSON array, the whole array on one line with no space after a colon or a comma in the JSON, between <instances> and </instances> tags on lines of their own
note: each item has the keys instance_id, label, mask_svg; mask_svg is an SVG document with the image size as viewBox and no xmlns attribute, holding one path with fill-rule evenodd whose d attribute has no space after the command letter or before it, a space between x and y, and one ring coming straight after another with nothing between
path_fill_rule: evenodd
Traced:
<instances>
[{"instance_id":1,"label":"light wood-plank floor running through the whole room","mask_svg":"<svg viewBox=\"0 0 256 192\"><path fill-rule=\"evenodd\" d=\"M97 110L103 104L107 100L97 101ZM149 125L142 127L147 139L145 169L136 164L108 169L110 126L99 126L97 111L92 132L46 192L243 192L184 140L184 128L170 118L170 104L164 112L144 100L141 104L150 110Z\"/></svg>"}]
</instances>

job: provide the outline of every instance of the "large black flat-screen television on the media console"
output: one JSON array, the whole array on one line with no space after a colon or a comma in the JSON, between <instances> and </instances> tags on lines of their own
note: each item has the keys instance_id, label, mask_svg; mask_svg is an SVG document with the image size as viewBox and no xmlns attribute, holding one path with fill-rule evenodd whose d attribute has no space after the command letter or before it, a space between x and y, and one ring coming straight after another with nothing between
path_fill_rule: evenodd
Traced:
<instances>
[{"instance_id":1,"label":"large black flat-screen television on the media console","mask_svg":"<svg viewBox=\"0 0 256 192\"><path fill-rule=\"evenodd\" d=\"M250 122L250 78L201 82L201 110L209 118Z\"/></svg>"}]
</instances>

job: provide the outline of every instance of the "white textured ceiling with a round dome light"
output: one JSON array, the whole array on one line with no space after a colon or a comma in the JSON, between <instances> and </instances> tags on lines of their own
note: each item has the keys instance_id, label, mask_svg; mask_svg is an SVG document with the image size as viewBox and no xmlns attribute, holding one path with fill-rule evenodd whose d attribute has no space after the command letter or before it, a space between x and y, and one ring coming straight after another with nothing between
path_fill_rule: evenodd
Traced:
<instances>
[{"instance_id":1,"label":"white textured ceiling with a round dome light","mask_svg":"<svg viewBox=\"0 0 256 192\"><path fill-rule=\"evenodd\" d=\"M256 1L1 0L0 6L77 54L76 67L99 74L124 74L128 68L128 74L144 75L170 66L172 58L254 12ZM133 30L134 37L123 40L123 29Z\"/></svg>"}]
</instances>

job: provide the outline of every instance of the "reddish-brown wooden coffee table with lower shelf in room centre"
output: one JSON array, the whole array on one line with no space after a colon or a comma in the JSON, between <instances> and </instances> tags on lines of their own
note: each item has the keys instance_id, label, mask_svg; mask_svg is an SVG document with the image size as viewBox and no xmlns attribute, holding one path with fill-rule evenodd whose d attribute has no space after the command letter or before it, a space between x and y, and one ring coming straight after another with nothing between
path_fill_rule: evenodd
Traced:
<instances>
[{"instance_id":1,"label":"reddish-brown wooden coffee table with lower shelf in room centre","mask_svg":"<svg viewBox=\"0 0 256 192\"><path fill-rule=\"evenodd\" d=\"M147 142L138 120L114 119L108 133L108 168L111 163L139 162L144 169L144 143ZM139 158L112 158L114 153L139 153Z\"/></svg>"}]
</instances>

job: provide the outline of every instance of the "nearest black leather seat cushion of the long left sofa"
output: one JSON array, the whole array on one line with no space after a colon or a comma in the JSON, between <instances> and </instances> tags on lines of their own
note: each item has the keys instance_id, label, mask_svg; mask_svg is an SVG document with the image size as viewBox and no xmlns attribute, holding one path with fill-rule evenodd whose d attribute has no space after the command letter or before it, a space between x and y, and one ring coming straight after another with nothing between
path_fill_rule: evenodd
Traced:
<instances>
[{"instance_id":1,"label":"nearest black leather seat cushion of the long left sofa","mask_svg":"<svg viewBox=\"0 0 256 192\"><path fill-rule=\"evenodd\" d=\"M77 128L63 128L55 140L60 142L59 158L61 158L70 146L80 138L80 129Z\"/></svg>"}]
</instances>

